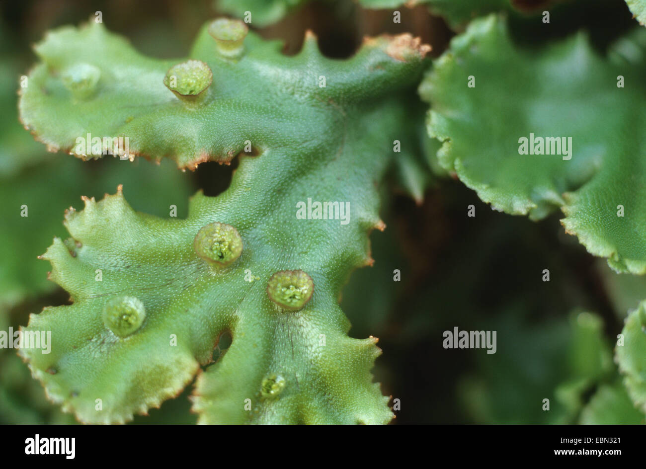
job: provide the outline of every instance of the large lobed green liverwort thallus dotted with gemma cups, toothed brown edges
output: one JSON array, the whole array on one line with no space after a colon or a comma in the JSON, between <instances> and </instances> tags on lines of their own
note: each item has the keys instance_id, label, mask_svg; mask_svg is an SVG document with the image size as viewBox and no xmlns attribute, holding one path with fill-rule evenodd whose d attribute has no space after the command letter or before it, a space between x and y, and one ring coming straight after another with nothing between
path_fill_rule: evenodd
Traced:
<instances>
[{"instance_id":1,"label":"large lobed green liverwort thallus dotted with gemma cups, toothed brown edges","mask_svg":"<svg viewBox=\"0 0 646 469\"><path fill-rule=\"evenodd\" d=\"M424 68L426 48L408 36L377 37L355 56L331 61L308 36L300 54L286 57L277 42L249 31L244 58L232 63L216 50L209 26L200 30L191 55L176 61L143 57L94 22L59 28L37 46L42 61L22 89L20 110L25 125L52 147L72 147L79 133L127 133L132 152L193 168L231 161L248 138L267 158L244 158L229 189L214 198L196 194L183 220L138 213L121 191L68 213L65 225L83 248L71 256L56 238L43 258L74 303L32 315L28 329L52 330L59 346L52 355L31 349L22 355L50 397L83 422L129 421L178 395L208 366L195 384L193 411L201 423L387 423L388 397L370 373L379 349L373 339L348 337L349 322L336 300L342 280L368 258L368 232L379 220L375 181L386 176L393 158L382 149L395 138L419 138L421 129L411 125L402 103ZM189 59L206 63L214 81L194 108L163 84L169 68ZM123 74L113 75L105 63L117 62ZM77 63L101 70L91 100L75 99L61 83L62 70ZM318 88L312 70L335 86ZM110 86L102 87L107 74ZM139 77L137 87L132 76ZM170 78L168 85L179 89L182 81ZM106 107L116 114L105 116ZM335 177L326 181L318 172L329 165ZM276 216L291 213L307 191L360 200L362 220L348 229ZM115 226L127 236L112 236ZM312 249L325 239L335 242ZM92 281L96 266L114 275ZM277 280L289 279L283 273L267 283L288 267L316 271L317 302L307 314L282 312L307 306L309 276L296 273L282 285ZM245 284L247 270L264 280ZM125 339L112 335L101 316L109 298L122 295L137 297L151 316ZM235 340L209 366L222 331ZM167 346L171 332L182 337L176 346ZM56 375L46 371L52 364ZM284 388L278 399L262 399L262 382L273 374L284 378ZM281 386L270 381L269 395ZM99 394L102 412L95 410ZM245 410L248 397L258 399L258 412Z\"/></svg>"}]
</instances>

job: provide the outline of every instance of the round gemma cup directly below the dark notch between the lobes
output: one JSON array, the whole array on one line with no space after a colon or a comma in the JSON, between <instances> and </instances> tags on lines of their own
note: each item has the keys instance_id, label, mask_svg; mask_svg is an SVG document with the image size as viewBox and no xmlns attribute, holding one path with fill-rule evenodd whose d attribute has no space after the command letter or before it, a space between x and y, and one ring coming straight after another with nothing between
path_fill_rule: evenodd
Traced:
<instances>
[{"instance_id":1,"label":"round gemma cup directly below the dark notch between the lobes","mask_svg":"<svg viewBox=\"0 0 646 469\"><path fill-rule=\"evenodd\" d=\"M222 267L228 266L242 254L242 238L238 230L220 222L200 228L193 246L200 258Z\"/></svg>"}]
</instances>

